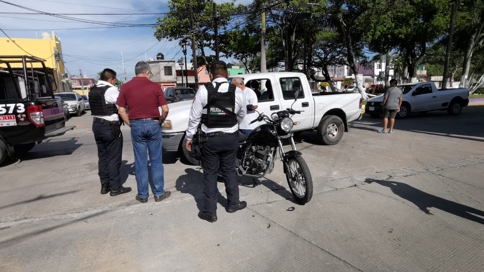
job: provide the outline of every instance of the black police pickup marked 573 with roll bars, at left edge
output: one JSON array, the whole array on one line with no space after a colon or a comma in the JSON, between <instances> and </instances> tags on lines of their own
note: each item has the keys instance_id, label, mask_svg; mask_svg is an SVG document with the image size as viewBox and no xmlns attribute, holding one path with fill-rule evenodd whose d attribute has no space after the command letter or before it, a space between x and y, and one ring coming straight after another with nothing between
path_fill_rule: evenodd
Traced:
<instances>
[{"instance_id":1,"label":"black police pickup marked 573 with roll bars, at left edge","mask_svg":"<svg viewBox=\"0 0 484 272\"><path fill-rule=\"evenodd\" d=\"M65 126L63 106L54 97L53 77L43 60L0 56L0 63L5 65L4 71L0 70L1 164L7 157L26 153L35 143L63 135L75 126ZM11 67L19 63L20 68ZM26 75L23 69L27 68Z\"/></svg>"}]
</instances>

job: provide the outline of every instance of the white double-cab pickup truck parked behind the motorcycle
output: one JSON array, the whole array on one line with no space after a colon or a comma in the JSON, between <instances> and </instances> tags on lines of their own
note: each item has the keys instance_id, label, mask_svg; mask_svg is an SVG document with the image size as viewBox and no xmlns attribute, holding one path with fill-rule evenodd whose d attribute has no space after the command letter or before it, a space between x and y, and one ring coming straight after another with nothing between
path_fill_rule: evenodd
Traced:
<instances>
[{"instance_id":1,"label":"white double-cab pickup truck parked behind the motorcycle","mask_svg":"<svg viewBox=\"0 0 484 272\"><path fill-rule=\"evenodd\" d=\"M292 117L292 132L316 130L318 139L323 144L337 144L343 132L348 132L348 122L361 119L362 100L359 93L311 93L309 82L302 73L256 73L237 76L244 79L245 86L255 89L256 94L260 93L257 111L269 116L272 112L289 108L294 102L295 92L300 90L292 108L304 112ZM233 77L229 78L229 82ZM184 144L191 106L191 101L168 104L169 113L162 124L163 150L181 149L184 157L195 163L185 150Z\"/></svg>"}]
</instances>

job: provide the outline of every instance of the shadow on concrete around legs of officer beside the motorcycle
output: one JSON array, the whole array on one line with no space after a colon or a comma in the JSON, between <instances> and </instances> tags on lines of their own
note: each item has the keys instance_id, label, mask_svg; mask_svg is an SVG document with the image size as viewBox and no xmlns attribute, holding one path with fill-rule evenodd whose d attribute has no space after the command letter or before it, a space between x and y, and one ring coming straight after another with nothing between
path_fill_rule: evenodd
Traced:
<instances>
[{"instance_id":1,"label":"shadow on concrete around legs of officer beside the motorcycle","mask_svg":"<svg viewBox=\"0 0 484 272\"><path fill-rule=\"evenodd\" d=\"M198 169L201 170L201 168ZM203 211L203 172L193 168L186 168L185 173L185 175L178 177L175 187L182 194L192 195L197 202L198 210ZM227 198L222 196L220 192L218 192L217 202L225 209L228 208Z\"/></svg>"}]
</instances>

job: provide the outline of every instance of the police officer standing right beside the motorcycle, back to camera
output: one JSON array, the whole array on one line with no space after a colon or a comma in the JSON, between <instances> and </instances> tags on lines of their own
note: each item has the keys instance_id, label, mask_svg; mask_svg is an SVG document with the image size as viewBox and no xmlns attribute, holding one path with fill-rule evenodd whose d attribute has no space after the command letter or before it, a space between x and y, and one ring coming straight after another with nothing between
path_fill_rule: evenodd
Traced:
<instances>
[{"instance_id":1,"label":"police officer standing right beside the motorcycle, back to camera","mask_svg":"<svg viewBox=\"0 0 484 272\"><path fill-rule=\"evenodd\" d=\"M245 98L240 88L228 84L227 64L215 61L210 66L212 82L197 91L190 110L186 131L186 148L192 150L192 139L198 131L200 157L203 166L204 208L198 217L217 221L217 170L222 171L227 192L227 212L236 212L247 206L239 200L239 185L235 174L235 160L239 147L238 121L246 113Z\"/></svg>"}]
</instances>

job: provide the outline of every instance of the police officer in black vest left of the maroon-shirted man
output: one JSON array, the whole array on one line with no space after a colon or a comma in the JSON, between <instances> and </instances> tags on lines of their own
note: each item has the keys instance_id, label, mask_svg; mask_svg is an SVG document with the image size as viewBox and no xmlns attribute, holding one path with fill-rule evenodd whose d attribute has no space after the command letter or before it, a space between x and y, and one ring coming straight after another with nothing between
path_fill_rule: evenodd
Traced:
<instances>
[{"instance_id":1,"label":"police officer in black vest left of the maroon-shirted man","mask_svg":"<svg viewBox=\"0 0 484 272\"><path fill-rule=\"evenodd\" d=\"M122 154L121 123L115 103L119 96L116 72L106 68L100 80L92 86L87 96L93 117L92 132L97 145L98 174L101 194L117 196L131 191L121 186L120 166Z\"/></svg>"}]
</instances>

